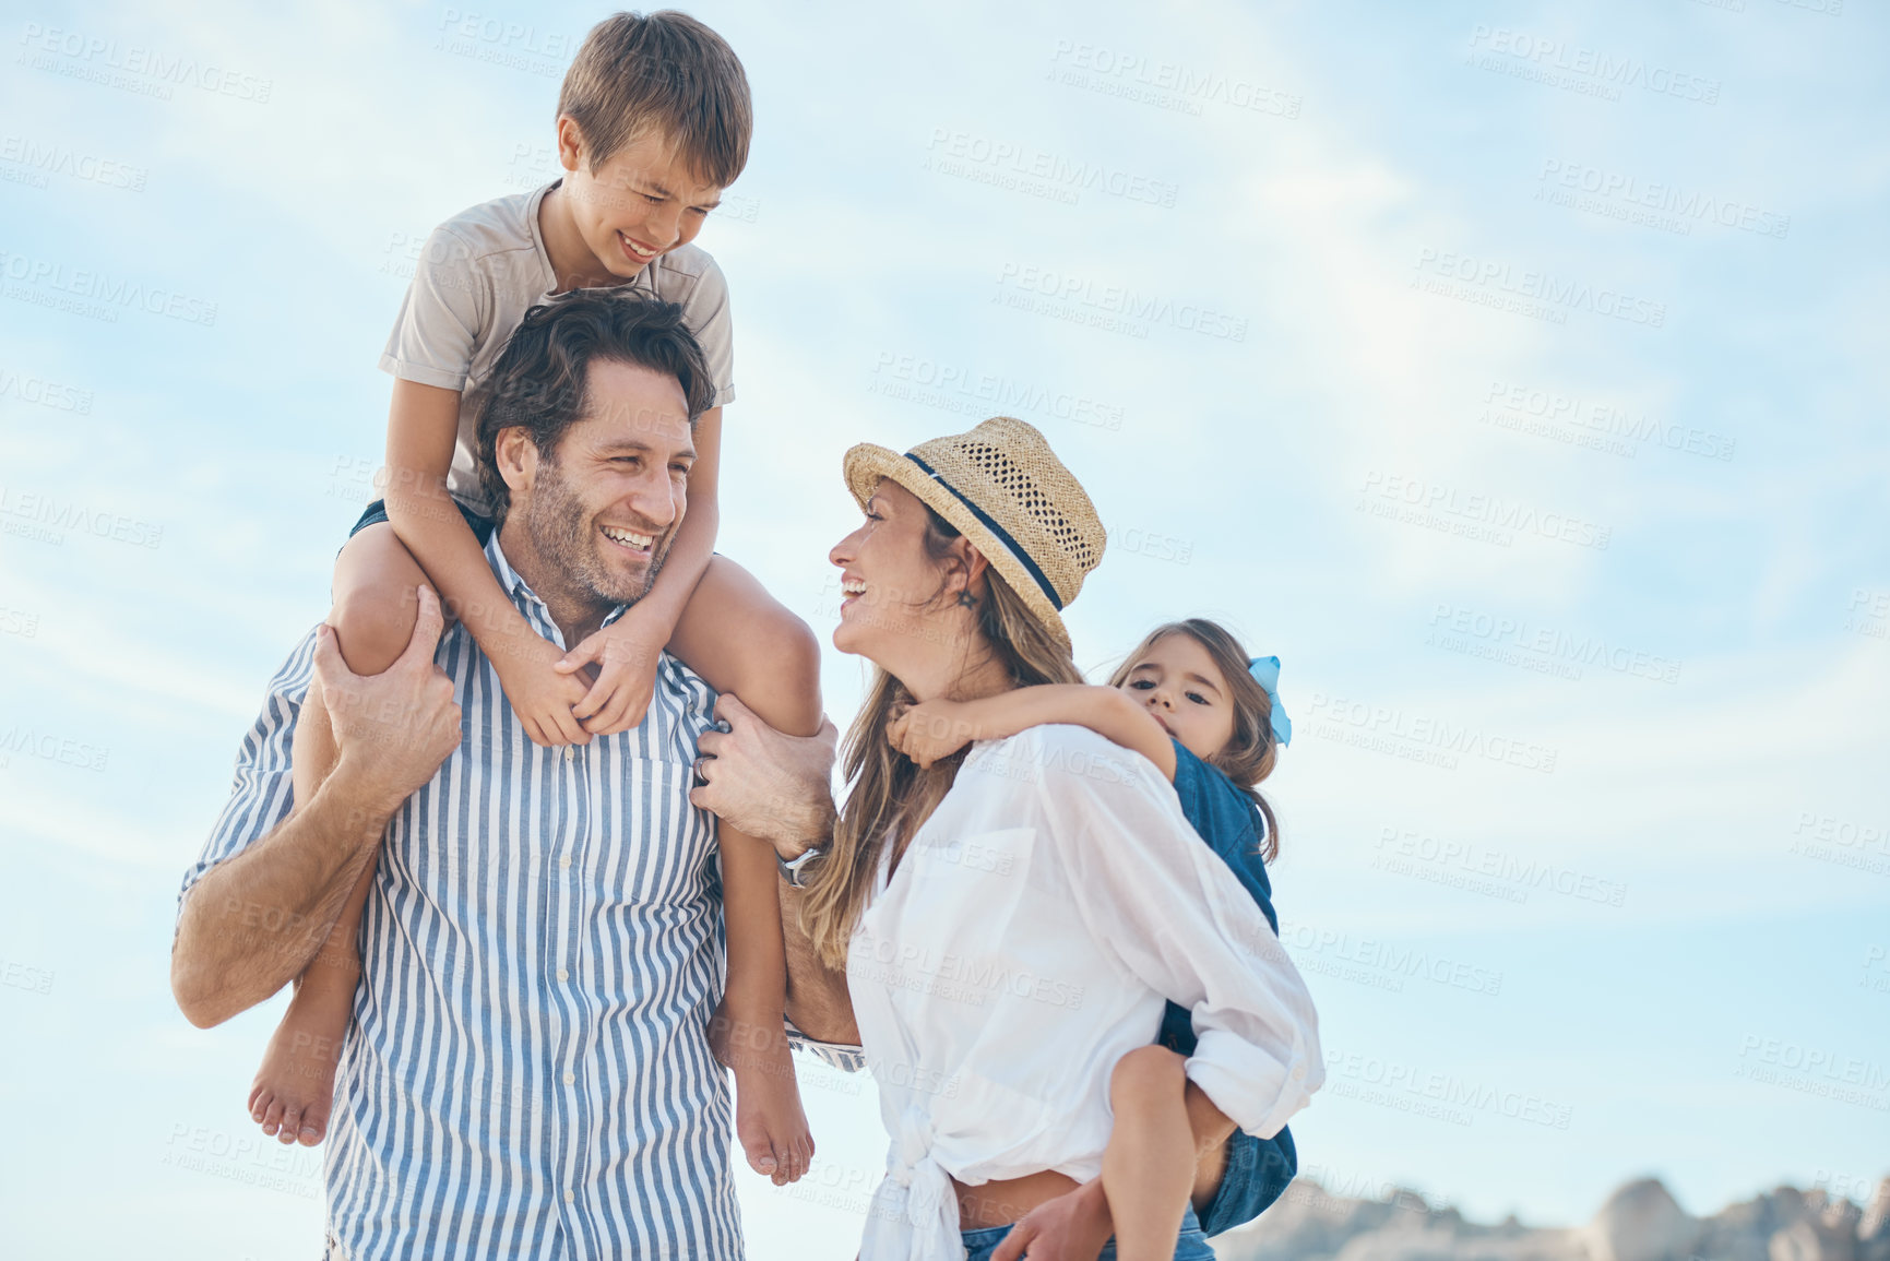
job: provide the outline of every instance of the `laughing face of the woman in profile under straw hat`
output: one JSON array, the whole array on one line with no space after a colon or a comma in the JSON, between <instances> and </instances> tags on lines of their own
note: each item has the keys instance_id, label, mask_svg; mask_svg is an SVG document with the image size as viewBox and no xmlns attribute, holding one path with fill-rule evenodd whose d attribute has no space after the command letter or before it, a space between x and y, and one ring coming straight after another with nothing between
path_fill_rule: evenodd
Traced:
<instances>
[{"instance_id":1,"label":"laughing face of the woman in profile under straw hat","mask_svg":"<svg viewBox=\"0 0 1890 1261\"><path fill-rule=\"evenodd\" d=\"M926 505L898 482L881 478L866 505L866 520L833 544L828 560L839 565L841 603L833 647L856 652L905 679L928 643L941 643L934 628L939 569L926 556Z\"/></svg>"}]
</instances>

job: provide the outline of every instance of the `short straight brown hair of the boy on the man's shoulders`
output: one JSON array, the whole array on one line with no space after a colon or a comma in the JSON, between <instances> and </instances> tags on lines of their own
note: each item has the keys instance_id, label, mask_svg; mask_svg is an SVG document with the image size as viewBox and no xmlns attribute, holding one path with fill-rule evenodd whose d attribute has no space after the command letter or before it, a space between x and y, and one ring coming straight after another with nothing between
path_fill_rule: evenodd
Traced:
<instances>
[{"instance_id":1,"label":"short straight brown hair of the boy on the man's shoulders","mask_svg":"<svg viewBox=\"0 0 1890 1261\"><path fill-rule=\"evenodd\" d=\"M590 170L641 140L667 138L703 183L726 189L748 164L754 104L735 49L688 13L612 13L584 36L558 113L584 132Z\"/></svg>"}]
</instances>

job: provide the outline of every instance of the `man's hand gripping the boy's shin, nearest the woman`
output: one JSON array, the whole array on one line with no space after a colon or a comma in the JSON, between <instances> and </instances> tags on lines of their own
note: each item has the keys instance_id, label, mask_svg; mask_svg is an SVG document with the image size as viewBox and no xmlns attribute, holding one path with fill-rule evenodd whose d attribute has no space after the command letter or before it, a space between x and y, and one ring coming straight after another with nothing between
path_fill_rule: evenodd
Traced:
<instances>
[{"instance_id":1,"label":"man's hand gripping the boy's shin, nearest the woman","mask_svg":"<svg viewBox=\"0 0 1890 1261\"><path fill-rule=\"evenodd\" d=\"M728 826L773 841L782 858L833 834L833 747L839 730L820 717L813 735L782 735L735 696L716 698L714 717L728 732L697 741L690 802L714 811Z\"/></svg>"}]
</instances>

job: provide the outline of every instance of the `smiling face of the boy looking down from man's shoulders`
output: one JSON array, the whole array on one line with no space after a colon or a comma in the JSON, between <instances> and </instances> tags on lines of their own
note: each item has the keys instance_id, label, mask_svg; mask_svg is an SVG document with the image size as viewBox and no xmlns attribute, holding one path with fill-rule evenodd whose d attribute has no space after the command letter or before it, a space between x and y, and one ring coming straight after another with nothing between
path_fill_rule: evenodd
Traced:
<instances>
[{"instance_id":1,"label":"smiling face of the boy looking down from man's shoulders","mask_svg":"<svg viewBox=\"0 0 1890 1261\"><path fill-rule=\"evenodd\" d=\"M656 255L696 240L722 189L697 183L667 136L644 134L592 166L584 132L558 119L563 191L584 246L609 274L633 280Z\"/></svg>"}]
</instances>

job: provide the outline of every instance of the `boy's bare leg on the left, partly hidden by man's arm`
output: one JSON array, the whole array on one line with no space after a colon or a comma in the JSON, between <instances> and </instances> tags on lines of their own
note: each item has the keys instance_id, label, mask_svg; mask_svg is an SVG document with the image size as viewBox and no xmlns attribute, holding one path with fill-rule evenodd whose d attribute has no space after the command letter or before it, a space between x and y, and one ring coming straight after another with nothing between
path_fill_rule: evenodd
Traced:
<instances>
[{"instance_id":1,"label":"boy's bare leg on the left, partly hidden by man's arm","mask_svg":"<svg viewBox=\"0 0 1890 1261\"><path fill-rule=\"evenodd\" d=\"M329 613L348 669L378 675L393 665L414 635L414 590L425 580L391 526L369 526L348 541L335 563L335 611ZM329 777L335 754L335 726L325 698L319 684L310 682L289 754L297 803L310 800ZM335 1068L361 979L361 909L374 887L376 866L378 860L361 872L327 941L297 979L289 1010L268 1040L249 1087L251 1119L285 1144L316 1146L329 1131Z\"/></svg>"}]
</instances>

